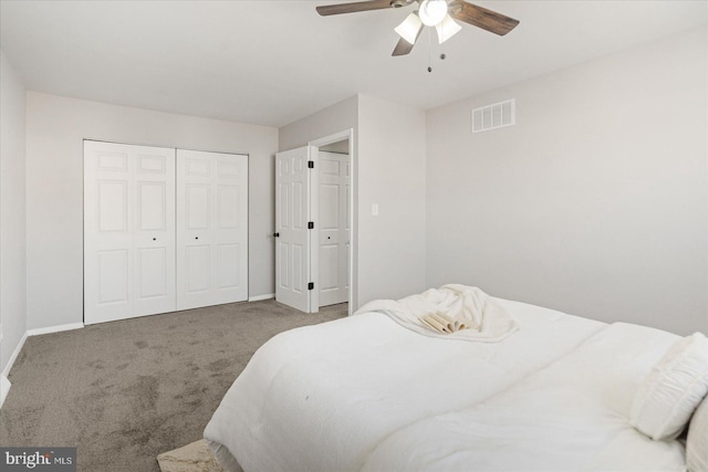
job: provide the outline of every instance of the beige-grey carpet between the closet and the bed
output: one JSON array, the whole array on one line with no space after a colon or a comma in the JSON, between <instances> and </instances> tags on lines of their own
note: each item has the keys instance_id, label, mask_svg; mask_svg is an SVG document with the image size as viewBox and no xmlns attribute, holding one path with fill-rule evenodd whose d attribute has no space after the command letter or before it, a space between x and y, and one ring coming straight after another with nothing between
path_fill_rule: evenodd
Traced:
<instances>
[{"instance_id":1,"label":"beige-grey carpet between the closet and the bed","mask_svg":"<svg viewBox=\"0 0 708 472\"><path fill-rule=\"evenodd\" d=\"M76 447L79 472L159 472L157 454L202 438L263 343L346 311L266 300L30 336L10 371L0 445Z\"/></svg>"}]
</instances>

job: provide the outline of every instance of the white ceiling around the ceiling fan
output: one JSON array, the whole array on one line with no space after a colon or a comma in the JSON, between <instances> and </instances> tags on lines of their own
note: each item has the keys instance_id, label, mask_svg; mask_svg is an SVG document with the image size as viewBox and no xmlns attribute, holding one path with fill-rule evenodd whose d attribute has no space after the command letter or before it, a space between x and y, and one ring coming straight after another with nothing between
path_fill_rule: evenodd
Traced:
<instances>
[{"instance_id":1,"label":"white ceiling around the ceiling fan","mask_svg":"<svg viewBox=\"0 0 708 472\"><path fill-rule=\"evenodd\" d=\"M32 91L281 126L356 93L427 109L708 18L706 0L475 1L521 23L507 36L465 25L442 46L424 31L392 57L413 7L315 12L330 3L0 0L0 46Z\"/></svg>"}]
</instances>

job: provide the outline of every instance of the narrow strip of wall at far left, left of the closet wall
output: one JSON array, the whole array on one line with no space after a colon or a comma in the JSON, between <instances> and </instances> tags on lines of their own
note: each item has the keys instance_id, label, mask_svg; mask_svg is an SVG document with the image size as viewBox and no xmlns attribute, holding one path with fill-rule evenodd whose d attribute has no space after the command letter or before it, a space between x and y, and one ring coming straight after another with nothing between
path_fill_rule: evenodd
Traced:
<instances>
[{"instance_id":1,"label":"narrow strip of wall at far left, left of the closet wall","mask_svg":"<svg viewBox=\"0 0 708 472\"><path fill-rule=\"evenodd\" d=\"M27 331L24 96L0 50L0 371Z\"/></svg>"}]
</instances>

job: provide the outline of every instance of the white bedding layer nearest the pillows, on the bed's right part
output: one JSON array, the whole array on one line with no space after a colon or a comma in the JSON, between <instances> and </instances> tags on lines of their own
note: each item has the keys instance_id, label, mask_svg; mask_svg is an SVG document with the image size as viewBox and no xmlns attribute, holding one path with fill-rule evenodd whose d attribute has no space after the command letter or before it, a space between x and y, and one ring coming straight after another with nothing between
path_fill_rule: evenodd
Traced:
<instances>
[{"instance_id":1,"label":"white bedding layer nearest the pillows, on the bed's right part","mask_svg":"<svg viewBox=\"0 0 708 472\"><path fill-rule=\"evenodd\" d=\"M637 387L679 337L613 324L487 401L392 434L365 471L683 471L678 441L629 426Z\"/></svg>"}]
</instances>

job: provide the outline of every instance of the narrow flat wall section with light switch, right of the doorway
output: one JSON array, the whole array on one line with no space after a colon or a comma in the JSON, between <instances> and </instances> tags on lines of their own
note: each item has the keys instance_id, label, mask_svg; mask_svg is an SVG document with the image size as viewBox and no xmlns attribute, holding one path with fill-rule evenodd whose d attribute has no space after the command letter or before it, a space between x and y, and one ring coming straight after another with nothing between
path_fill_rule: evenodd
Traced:
<instances>
[{"instance_id":1,"label":"narrow flat wall section with light switch, right of the doorway","mask_svg":"<svg viewBox=\"0 0 708 472\"><path fill-rule=\"evenodd\" d=\"M360 95L361 304L426 289L425 126L423 111Z\"/></svg>"}]
</instances>

